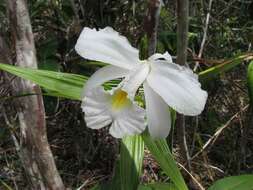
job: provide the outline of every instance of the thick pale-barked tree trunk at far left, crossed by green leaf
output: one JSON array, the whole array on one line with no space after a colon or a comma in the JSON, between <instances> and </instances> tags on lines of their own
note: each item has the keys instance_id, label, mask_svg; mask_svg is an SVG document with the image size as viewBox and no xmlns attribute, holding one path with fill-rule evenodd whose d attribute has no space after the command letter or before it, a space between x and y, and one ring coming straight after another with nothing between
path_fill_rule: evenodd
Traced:
<instances>
[{"instance_id":1,"label":"thick pale-barked tree trunk at far left, crossed by green leaf","mask_svg":"<svg viewBox=\"0 0 253 190\"><path fill-rule=\"evenodd\" d=\"M24 0L8 0L7 9L15 43L17 66L37 68L34 37ZM37 94L16 99L20 127L20 159L29 178L30 189L64 190L47 140L44 104L41 89L34 83L16 79L14 94Z\"/></svg>"}]
</instances>

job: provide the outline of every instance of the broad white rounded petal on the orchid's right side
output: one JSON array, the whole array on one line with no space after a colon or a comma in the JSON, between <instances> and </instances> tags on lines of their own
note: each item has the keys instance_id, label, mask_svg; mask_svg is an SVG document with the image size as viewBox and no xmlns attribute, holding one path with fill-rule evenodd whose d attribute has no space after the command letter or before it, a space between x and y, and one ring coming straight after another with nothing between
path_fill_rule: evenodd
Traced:
<instances>
[{"instance_id":1,"label":"broad white rounded petal on the orchid's right side","mask_svg":"<svg viewBox=\"0 0 253 190\"><path fill-rule=\"evenodd\" d=\"M157 60L151 63L147 82L170 107L181 114L194 116L204 109L207 92L201 89L197 75L187 67Z\"/></svg>"}]
</instances>

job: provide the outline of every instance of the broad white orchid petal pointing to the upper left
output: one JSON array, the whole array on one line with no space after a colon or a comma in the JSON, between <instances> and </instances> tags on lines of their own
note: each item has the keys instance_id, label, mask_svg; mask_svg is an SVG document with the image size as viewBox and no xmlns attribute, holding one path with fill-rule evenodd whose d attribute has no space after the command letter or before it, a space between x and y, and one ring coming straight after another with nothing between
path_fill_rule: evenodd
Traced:
<instances>
[{"instance_id":1,"label":"broad white orchid petal pointing to the upper left","mask_svg":"<svg viewBox=\"0 0 253 190\"><path fill-rule=\"evenodd\" d=\"M110 27L99 31L85 27L77 40L75 50L86 59L125 69L133 68L139 61L139 51Z\"/></svg>"}]
</instances>

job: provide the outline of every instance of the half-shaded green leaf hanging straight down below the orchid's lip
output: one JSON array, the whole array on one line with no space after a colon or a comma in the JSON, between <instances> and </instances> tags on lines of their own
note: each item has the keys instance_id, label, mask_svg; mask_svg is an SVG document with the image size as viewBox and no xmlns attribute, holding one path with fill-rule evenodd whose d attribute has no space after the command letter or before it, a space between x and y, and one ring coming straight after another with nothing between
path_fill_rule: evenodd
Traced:
<instances>
[{"instance_id":1,"label":"half-shaded green leaf hanging straight down below the orchid's lip","mask_svg":"<svg viewBox=\"0 0 253 190\"><path fill-rule=\"evenodd\" d=\"M142 174L144 142L140 135L127 136L120 147L121 190L136 190Z\"/></svg>"}]
</instances>

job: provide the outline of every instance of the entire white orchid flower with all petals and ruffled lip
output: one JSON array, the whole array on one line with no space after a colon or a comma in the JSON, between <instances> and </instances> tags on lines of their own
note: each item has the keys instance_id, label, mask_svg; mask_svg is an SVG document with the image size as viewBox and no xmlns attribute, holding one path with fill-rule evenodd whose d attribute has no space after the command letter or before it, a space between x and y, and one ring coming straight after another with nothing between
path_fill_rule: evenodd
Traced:
<instances>
[{"instance_id":1,"label":"entire white orchid flower with all petals and ruffled lip","mask_svg":"<svg viewBox=\"0 0 253 190\"><path fill-rule=\"evenodd\" d=\"M95 120L91 121L92 117L89 118L89 115L94 116L95 111L91 114L89 110L99 109L99 105L101 106L102 104L104 105L102 106L103 109L106 107L107 111L112 110L112 104L108 106L108 104L104 103L108 101L108 98L102 98L107 96L105 92L102 93L101 90L96 91L94 89L106 81L117 78L124 78L118 90L120 93L124 93L123 101L129 101L132 106L131 116L129 115L131 112L129 108L124 106L125 109L128 109L128 114L123 115L124 113L121 112L118 115L118 118L124 118L125 121L120 124L120 129L122 130L118 136L129 133L130 129L126 129L129 127L127 120L131 120L131 117L136 117L135 120L138 121L142 120L140 118L143 115L140 114L141 117L138 117L138 112L143 113L143 110L140 111L141 108L136 107L137 105L132 102L137 89L142 84L144 87L148 129L153 138L164 138L169 134L171 126L169 106L181 114L190 116L199 115L204 109L207 93L201 89L197 75L189 68L173 63L168 53L157 53L147 60L140 60L139 51L132 47L124 36L121 36L110 27L99 31L84 28L75 49L79 55L86 59L110 64L96 71L87 81L84 88L82 107L88 127L100 128L108 125L109 121L115 121L115 117L111 116L113 114L110 111L108 112L110 113L108 117L111 120L108 119L104 123L101 121L101 123L98 122L96 124ZM87 97L88 99L85 100ZM114 94L111 93L109 99L113 99L113 97L117 99L117 91ZM94 108L92 108L92 103L89 104L89 98L90 101L96 104ZM101 111L102 108L99 110ZM96 113L99 113L99 111ZM128 116L129 118L127 118ZM99 118L99 114L97 119L102 120L102 118ZM144 130L140 122L136 126L138 126L136 127L139 130L138 132ZM117 136L115 133L120 129L116 129L115 124L112 124L112 127L115 128L114 136ZM133 128L133 125L131 127ZM135 133L135 129L131 132Z\"/></svg>"}]
</instances>

